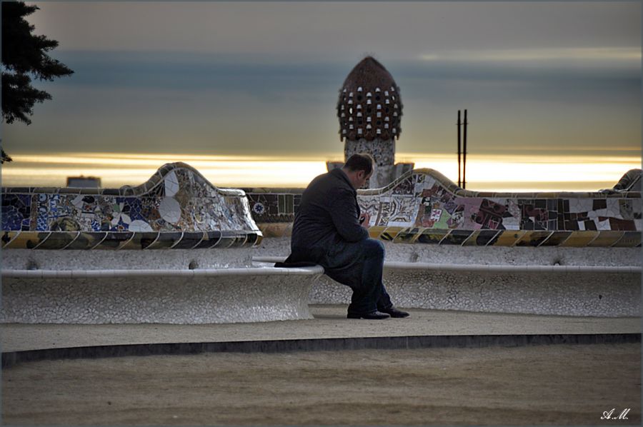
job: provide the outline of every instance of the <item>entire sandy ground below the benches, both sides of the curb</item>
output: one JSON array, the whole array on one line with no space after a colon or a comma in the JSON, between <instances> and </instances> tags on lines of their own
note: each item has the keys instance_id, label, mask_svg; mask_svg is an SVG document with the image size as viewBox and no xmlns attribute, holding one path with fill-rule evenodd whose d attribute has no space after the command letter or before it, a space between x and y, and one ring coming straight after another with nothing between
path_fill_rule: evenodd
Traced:
<instances>
[{"instance_id":1,"label":"entire sandy ground below the benches, both sides of the curb","mask_svg":"<svg viewBox=\"0 0 643 427\"><path fill-rule=\"evenodd\" d=\"M639 318L409 310L364 321L345 318L346 306L311 311L269 323L3 325L3 359L16 356L2 372L3 421L587 426L629 408L612 424L640 425ZM583 337L593 343L577 345ZM449 346L484 348L426 348ZM135 354L158 356L91 358ZM19 363L46 358L79 359Z\"/></svg>"}]
</instances>

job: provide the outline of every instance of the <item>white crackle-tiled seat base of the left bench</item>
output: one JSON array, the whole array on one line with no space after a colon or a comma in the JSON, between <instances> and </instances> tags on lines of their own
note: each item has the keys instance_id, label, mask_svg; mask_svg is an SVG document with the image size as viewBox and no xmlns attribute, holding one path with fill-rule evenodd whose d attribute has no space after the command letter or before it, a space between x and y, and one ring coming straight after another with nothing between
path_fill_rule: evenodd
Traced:
<instances>
[{"instance_id":1,"label":"white crackle-tiled seat base of the left bench","mask_svg":"<svg viewBox=\"0 0 643 427\"><path fill-rule=\"evenodd\" d=\"M3 323L236 323L312 318L324 269L3 270Z\"/></svg>"}]
</instances>

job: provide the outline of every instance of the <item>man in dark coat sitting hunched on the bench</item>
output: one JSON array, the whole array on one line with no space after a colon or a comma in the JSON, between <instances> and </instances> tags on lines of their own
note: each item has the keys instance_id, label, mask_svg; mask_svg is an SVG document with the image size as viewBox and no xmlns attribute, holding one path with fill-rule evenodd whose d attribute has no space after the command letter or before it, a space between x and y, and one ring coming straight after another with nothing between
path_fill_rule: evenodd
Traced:
<instances>
[{"instance_id":1,"label":"man in dark coat sitting hunched on the bench","mask_svg":"<svg viewBox=\"0 0 643 427\"><path fill-rule=\"evenodd\" d=\"M301 195L285 263L314 262L353 290L348 318L407 317L394 308L382 283L384 245L369 238L369 214L360 215L357 189L373 174L369 154L354 154L342 169L317 176Z\"/></svg>"}]
</instances>

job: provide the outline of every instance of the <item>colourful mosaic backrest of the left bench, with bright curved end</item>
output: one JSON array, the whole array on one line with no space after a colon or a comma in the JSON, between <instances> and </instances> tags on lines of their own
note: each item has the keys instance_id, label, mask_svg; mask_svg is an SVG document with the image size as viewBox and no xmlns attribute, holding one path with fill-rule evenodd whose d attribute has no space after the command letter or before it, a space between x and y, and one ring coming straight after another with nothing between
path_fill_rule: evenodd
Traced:
<instances>
[{"instance_id":1,"label":"colourful mosaic backrest of the left bench, with bright curved end","mask_svg":"<svg viewBox=\"0 0 643 427\"><path fill-rule=\"evenodd\" d=\"M261 241L243 191L166 164L137 187L3 188L2 248L163 249Z\"/></svg>"}]
</instances>

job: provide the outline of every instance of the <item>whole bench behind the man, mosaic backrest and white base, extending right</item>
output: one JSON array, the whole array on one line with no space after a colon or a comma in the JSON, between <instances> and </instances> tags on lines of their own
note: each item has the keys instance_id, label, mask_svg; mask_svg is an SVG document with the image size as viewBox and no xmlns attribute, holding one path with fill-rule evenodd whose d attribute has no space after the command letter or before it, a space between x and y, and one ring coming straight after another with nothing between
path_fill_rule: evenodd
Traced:
<instances>
[{"instance_id":1,"label":"whole bench behind the man, mosaic backrest and white base, extending right","mask_svg":"<svg viewBox=\"0 0 643 427\"><path fill-rule=\"evenodd\" d=\"M271 250L289 253L302 189L246 189ZM384 283L409 308L639 316L641 193L489 193L417 169L359 190L369 233L384 241ZM274 242L273 242L274 241ZM266 256L268 258L266 258ZM324 276L311 303L348 303Z\"/></svg>"}]
</instances>

